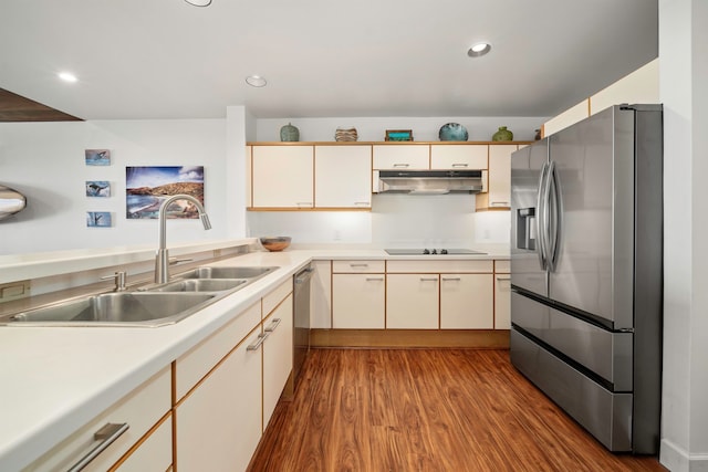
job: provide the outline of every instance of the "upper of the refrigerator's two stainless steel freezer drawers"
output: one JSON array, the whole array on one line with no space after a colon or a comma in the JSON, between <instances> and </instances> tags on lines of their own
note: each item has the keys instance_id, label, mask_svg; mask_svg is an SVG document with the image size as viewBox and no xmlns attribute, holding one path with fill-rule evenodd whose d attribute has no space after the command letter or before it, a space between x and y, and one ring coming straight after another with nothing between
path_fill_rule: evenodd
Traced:
<instances>
[{"instance_id":1,"label":"upper of the refrigerator's two stainless steel freezer drawers","mask_svg":"<svg viewBox=\"0 0 708 472\"><path fill-rule=\"evenodd\" d=\"M511 293L511 322L607 380L614 391L631 391L632 333L613 333Z\"/></svg>"}]
</instances>

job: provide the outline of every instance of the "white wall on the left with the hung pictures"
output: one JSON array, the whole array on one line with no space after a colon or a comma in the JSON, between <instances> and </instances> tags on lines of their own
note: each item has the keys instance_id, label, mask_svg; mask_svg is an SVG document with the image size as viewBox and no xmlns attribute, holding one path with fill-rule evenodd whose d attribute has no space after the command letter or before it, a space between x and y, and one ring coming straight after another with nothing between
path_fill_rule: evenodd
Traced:
<instances>
[{"instance_id":1,"label":"white wall on the left with the hung pictures","mask_svg":"<svg viewBox=\"0 0 708 472\"><path fill-rule=\"evenodd\" d=\"M205 167L205 204L214 229L169 221L167 243L242 238L243 217L231 220L226 120L96 120L0 124L0 182L28 198L22 212L0 221L0 254L82 248L156 245L156 220L125 218L126 166ZM242 135L242 128L237 135ZM241 136L241 143L244 138ZM111 166L86 166L84 149L112 150ZM232 156L240 158L243 150ZM86 180L108 180L110 198L85 197ZM112 228L86 228L86 211L110 211Z\"/></svg>"}]
</instances>

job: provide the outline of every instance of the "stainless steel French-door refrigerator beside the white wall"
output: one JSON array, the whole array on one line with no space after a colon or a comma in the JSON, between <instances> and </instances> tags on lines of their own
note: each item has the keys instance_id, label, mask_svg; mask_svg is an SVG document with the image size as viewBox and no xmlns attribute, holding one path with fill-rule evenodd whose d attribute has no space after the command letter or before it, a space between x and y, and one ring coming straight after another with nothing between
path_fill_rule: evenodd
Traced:
<instances>
[{"instance_id":1,"label":"stainless steel French-door refrigerator beside the white wall","mask_svg":"<svg viewBox=\"0 0 708 472\"><path fill-rule=\"evenodd\" d=\"M662 174L660 105L511 157L511 361L611 451L658 452Z\"/></svg>"}]
</instances>

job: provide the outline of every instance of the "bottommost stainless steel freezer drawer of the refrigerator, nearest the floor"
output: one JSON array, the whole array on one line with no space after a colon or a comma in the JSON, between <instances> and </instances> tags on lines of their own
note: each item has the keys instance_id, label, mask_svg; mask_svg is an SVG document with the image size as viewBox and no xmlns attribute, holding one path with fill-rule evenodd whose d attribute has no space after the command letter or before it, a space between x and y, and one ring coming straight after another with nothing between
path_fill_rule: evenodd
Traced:
<instances>
[{"instance_id":1,"label":"bottommost stainless steel freezer drawer of the refrigerator, nearest the floor","mask_svg":"<svg viewBox=\"0 0 708 472\"><path fill-rule=\"evenodd\" d=\"M632 394L612 394L511 329L511 363L607 449L632 450Z\"/></svg>"}]
</instances>

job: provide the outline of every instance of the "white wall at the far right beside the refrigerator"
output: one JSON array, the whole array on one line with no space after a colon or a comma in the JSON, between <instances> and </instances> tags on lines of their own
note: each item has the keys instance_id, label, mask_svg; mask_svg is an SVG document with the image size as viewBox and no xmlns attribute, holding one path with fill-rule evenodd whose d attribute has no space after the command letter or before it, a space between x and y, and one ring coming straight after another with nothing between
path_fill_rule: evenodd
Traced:
<instances>
[{"instance_id":1,"label":"white wall at the far right beside the refrigerator","mask_svg":"<svg viewBox=\"0 0 708 472\"><path fill-rule=\"evenodd\" d=\"M708 471L708 2L659 0L664 103L664 377L660 461Z\"/></svg>"}]
</instances>

